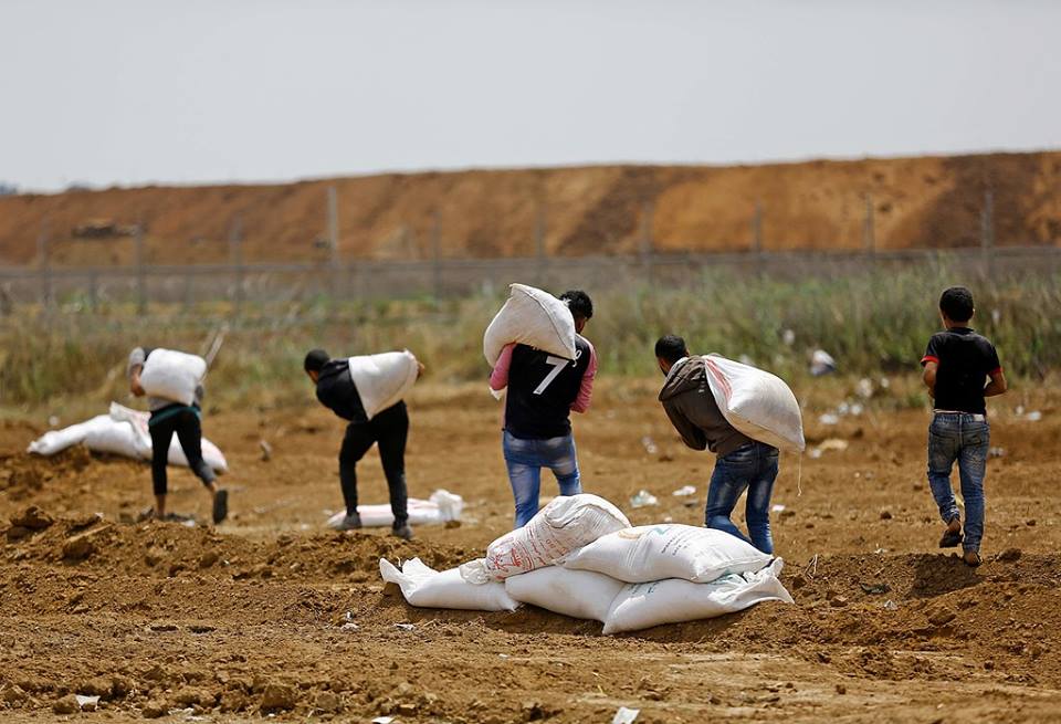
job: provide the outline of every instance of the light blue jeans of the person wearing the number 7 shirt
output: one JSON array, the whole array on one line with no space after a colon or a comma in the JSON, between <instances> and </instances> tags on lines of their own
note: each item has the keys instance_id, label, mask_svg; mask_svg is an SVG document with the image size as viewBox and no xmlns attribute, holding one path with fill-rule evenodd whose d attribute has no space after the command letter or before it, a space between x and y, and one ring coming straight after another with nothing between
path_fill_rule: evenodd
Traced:
<instances>
[{"instance_id":1,"label":"light blue jeans of the person wearing the number 7 shirt","mask_svg":"<svg viewBox=\"0 0 1061 724\"><path fill-rule=\"evenodd\" d=\"M512 495L516 500L515 527L523 527L538 512L543 468L548 468L556 475L560 495L578 495L582 492L572 436L522 440L506 430L502 433L502 449L505 451Z\"/></svg>"}]
</instances>

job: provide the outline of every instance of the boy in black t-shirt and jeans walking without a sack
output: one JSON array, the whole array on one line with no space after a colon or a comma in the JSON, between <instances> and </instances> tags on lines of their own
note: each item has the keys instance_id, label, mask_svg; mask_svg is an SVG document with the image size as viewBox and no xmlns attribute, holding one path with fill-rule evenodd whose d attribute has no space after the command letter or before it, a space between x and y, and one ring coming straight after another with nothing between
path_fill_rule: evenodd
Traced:
<instances>
[{"instance_id":1,"label":"boy in black t-shirt and jeans walking without a sack","mask_svg":"<svg viewBox=\"0 0 1061 724\"><path fill-rule=\"evenodd\" d=\"M928 427L928 484L947 524L939 547L960 544L965 563L978 566L984 537L984 476L991 434L984 399L1001 395L1007 386L995 345L968 326L973 313L969 290L953 286L944 292L939 316L946 330L932 336L921 364L925 368L925 386L934 400ZM964 541L962 517L950 487L955 461L965 501Z\"/></svg>"}]
</instances>

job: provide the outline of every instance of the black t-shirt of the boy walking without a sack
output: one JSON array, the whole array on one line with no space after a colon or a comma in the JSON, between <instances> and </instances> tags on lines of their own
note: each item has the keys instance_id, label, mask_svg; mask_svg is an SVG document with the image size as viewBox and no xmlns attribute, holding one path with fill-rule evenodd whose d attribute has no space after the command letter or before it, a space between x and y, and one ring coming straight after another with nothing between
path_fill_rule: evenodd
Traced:
<instances>
[{"instance_id":1,"label":"black t-shirt of the boy walking without a sack","mask_svg":"<svg viewBox=\"0 0 1061 724\"><path fill-rule=\"evenodd\" d=\"M937 332L928 340L921 364L934 361L937 410L984 415L984 387L992 373L1001 370L995 345L968 327Z\"/></svg>"}]
</instances>

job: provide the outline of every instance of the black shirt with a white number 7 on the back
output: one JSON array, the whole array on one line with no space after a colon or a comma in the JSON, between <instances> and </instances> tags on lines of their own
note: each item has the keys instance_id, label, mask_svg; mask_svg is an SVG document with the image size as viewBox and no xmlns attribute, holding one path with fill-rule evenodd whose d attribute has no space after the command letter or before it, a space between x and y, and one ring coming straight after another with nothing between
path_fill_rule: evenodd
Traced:
<instances>
[{"instance_id":1,"label":"black shirt with a white number 7 on the back","mask_svg":"<svg viewBox=\"0 0 1061 724\"><path fill-rule=\"evenodd\" d=\"M571 403L589 367L589 343L575 337L575 359L516 345L508 367L505 430L522 440L548 440L571 433Z\"/></svg>"}]
</instances>

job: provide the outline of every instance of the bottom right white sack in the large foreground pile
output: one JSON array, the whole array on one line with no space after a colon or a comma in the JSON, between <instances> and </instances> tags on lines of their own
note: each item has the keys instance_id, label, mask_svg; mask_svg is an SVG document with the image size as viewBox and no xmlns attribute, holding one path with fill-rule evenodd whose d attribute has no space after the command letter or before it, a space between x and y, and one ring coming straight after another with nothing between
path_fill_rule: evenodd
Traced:
<instances>
[{"instance_id":1,"label":"bottom right white sack in the large foreground pile","mask_svg":"<svg viewBox=\"0 0 1061 724\"><path fill-rule=\"evenodd\" d=\"M763 570L723 576L708 584L668 578L626 586L611 605L605 633L639 631L662 623L715 618L764 601L791 604L778 576L780 558Z\"/></svg>"}]
</instances>

